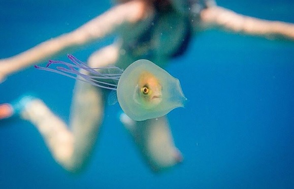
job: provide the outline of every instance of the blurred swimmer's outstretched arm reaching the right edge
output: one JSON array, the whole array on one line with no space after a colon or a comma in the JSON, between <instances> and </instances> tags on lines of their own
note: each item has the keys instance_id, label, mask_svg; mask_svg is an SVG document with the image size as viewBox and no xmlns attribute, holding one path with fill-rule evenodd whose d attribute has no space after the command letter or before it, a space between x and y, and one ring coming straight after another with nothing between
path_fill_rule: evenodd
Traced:
<instances>
[{"instance_id":1,"label":"blurred swimmer's outstretched arm reaching the right edge","mask_svg":"<svg viewBox=\"0 0 294 189\"><path fill-rule=\"evenodd\" d=\"M244 16L217 6L204 9L201 22L204 29L216 27L233 33L294 41L294 24Z\"/></svg>"}]
</instances>

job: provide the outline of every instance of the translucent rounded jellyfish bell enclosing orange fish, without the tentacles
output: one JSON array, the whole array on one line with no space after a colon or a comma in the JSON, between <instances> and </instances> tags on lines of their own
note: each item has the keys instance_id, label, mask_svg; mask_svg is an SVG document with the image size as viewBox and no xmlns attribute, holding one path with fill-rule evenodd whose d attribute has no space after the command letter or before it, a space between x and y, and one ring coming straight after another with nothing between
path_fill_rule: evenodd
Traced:
<instances>
[{"instance_id":1,"label":"translucent rounded jellyfish bell enclosing orange fish, without the tentacles","mask_svg":"<svg viewBox=\"0 0 294 189\"><path fill-rule=\"evenodd\" d=\"M180 82L146 59L135 61L120 76L118 102L126 115L136 121L161 117L184 107Z\"/></svg>"}]
</instances>

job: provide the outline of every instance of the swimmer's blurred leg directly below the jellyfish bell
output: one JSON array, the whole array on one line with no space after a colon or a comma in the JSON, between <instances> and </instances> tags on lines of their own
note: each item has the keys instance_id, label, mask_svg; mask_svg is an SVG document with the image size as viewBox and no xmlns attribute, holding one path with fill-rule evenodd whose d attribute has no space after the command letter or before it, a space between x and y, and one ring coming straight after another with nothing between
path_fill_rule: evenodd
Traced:
<instances>
[{"instance_id":1,"label":"swimmer's blurred leg directly below the jellyfish bell","mask_svg":"<svg viewBox=\"0 0 294 189\"><path fill-rule=\"evenodd\" d=\"M170 168L182 161L182 155L175 147L167 116L134 121L122 114L120 120L153 171Z\"/></svg>"}]
</instances>

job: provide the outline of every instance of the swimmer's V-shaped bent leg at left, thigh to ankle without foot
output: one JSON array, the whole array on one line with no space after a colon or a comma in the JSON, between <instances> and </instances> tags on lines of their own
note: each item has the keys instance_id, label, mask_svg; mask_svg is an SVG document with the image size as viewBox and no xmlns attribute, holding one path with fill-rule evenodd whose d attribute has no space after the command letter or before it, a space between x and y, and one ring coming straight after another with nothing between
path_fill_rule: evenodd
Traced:
<instances>
[{"instance_id":1,"label":"swimmer's V-shaped bent leg at left, thigh to ankle without foot","mask_svg":"<svg viewBox=\"0 0 294 189\"><path fill-rule=\"evenodd\" d=\"M32 100L21 117L36 126L54 159L65 169L85 167L104 116L104 91L77 82L71 113L71 130L40 99Z\"/></svg>"}]
</instances>

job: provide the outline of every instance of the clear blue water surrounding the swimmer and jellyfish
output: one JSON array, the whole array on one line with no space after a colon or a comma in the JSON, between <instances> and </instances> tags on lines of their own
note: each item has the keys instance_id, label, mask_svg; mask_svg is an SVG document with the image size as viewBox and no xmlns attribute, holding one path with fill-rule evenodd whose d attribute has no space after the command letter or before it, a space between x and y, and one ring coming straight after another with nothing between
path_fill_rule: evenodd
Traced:
<instances>
[{"instance_id":1,"label":"clear blue water surrounding the swimmer and jellyfish","mask_svg":"<svg viewBox=\"0 0 294 189\"><path fill-rule=\"evenodd\" d=\"M0 1L0 58L71 31L109 1ZM217 1L263 19L294 23L294 2ZM79 49L86 60L113 38ZM59 59L66 60L65 55ZM45 62L44 62L45 64ZM167 70L179 78L186 108L169 114L184 162L152 173L108 107L101 138L84 172L51 157L34 126L0 122L1 188L294 188L294 44L207 31ZM0 103L35 92L68 121L74 80L29 68L0 84Z\"/></svg>"}]
</instances>

